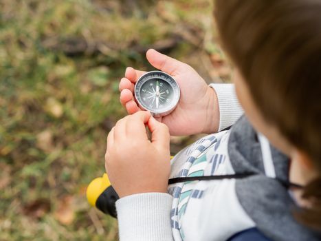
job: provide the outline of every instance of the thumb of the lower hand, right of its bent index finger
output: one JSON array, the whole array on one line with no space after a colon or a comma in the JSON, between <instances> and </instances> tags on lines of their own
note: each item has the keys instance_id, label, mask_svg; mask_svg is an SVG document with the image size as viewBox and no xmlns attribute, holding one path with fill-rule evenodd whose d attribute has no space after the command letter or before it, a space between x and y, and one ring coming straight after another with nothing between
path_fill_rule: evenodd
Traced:
<instances>
[{"instance_id":1,"label":"thumb of the lower hand, right of its bent index finger","mask_svg":"<svg viewBox=\"0 0 321 241\"><path fill-rule=\"evenodd\" d=\"M157 147L169 148L170 134L167 125L160 123L151 117L148 120L148 129L151 131L151 142Z\"/></svg>"}]
</instances>

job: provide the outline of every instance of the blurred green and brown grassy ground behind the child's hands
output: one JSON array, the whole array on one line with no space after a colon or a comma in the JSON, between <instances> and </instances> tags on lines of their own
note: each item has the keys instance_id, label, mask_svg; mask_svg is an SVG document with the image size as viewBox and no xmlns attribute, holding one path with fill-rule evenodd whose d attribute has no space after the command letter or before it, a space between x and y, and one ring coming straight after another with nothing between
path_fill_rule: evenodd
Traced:
<instances>
[{"instance_id":1,"label":"blurred green and brown grassy ground behind the child's hands","mask_svg":"<svg viewBox=\"0 0 321 241\"><path fill-rule=\"evenodd\" d=\"M107 134L126 114L118 81L127 66L153 70L148 48L208 81L230 78L210 1L0 7L0 240L117 240L117 222L89 207L85 190L104 172ZM190 141L173 138L173 150Z\"/></svg>"}]
</instances>

